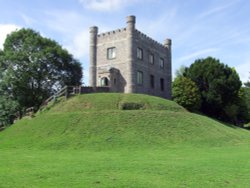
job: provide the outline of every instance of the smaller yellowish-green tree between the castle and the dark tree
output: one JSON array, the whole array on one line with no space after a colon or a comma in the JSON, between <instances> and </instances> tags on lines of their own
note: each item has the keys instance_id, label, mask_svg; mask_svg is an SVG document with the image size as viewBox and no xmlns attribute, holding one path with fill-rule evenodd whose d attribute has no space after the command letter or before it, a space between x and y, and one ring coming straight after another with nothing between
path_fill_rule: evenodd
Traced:
<instances>
[{"instance_id":1,"label":"smaller yellowish-green tree between the castle and the dark tree","mask_svg":"<svg viewBox=\"0 0 250 188\"><path fill-rule=\"evenodd\" d=\"M173 100L190 111L200 108L201 97L199 88L189 78L179 76L173 82Z\"/></svg>"}]
</instances>

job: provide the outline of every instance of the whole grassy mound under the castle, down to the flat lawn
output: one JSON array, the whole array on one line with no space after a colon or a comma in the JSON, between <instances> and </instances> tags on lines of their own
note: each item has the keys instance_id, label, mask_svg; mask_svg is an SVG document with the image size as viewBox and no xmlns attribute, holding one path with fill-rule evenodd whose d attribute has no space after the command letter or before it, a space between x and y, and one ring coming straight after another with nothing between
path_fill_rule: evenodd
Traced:
<instances>
[{"instance_id":1,"label":"whole grassy mound under the castle, down to the flat lawn","mask_svg":"<svg viewBox=\"0 0 250 188\"><path fill-rule=\"evenodd\" d=\"M61 99L0 133L1 147L44 149L164 148L245 143L249 132L140 94Z\"/></svg>"}]
</instances>

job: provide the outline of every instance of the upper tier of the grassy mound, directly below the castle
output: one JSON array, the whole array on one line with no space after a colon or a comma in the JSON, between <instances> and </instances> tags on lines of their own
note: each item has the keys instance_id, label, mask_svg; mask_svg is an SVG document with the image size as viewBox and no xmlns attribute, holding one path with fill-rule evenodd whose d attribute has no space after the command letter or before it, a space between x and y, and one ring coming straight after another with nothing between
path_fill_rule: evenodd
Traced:
<instances>
[{"instance_id":1,"label":"upper tier of the grassy mound, directly below the castle","mask_svg":"<svg viewBox=\"0 0 250 188\"><path fill-rule=\"evenodd\" d=\"M141 94L100 93L79 95L60 102L51 112L83 112L90 110L185 110L173 101Z\"/></svg>"}]
</instances>

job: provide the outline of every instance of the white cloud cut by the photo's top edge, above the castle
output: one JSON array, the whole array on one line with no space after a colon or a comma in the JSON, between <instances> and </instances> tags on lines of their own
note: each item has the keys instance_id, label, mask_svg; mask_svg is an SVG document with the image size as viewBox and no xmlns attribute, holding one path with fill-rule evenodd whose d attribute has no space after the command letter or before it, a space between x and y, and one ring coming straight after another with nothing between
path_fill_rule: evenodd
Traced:
<instances>
[{"instance_id":1,"label":"white cloud cut by the photo's top edge, above the castle","mask_svg":"<svg viewBox=\"0 0 250 188\"><path fill-rule=\"evenodd\" d=\"M138 1L140 0L79 0L85 8L96 11L120 10Z\"/></svg>"}]
</instances>

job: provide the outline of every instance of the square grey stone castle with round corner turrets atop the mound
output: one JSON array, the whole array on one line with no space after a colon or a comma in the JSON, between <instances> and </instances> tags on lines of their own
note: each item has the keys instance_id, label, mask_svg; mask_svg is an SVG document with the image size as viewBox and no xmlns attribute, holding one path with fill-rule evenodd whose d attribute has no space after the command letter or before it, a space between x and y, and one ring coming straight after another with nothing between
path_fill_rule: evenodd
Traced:
<instances>
[{"instance_id":1,"label":"square grey stone castle with round corner turrets atop the mound","mask_svg":"<svg viewBox=\"0 0 250 188\"><path fill-rule=\"evenodd\" d=\"M126 28L98 33L90 28L89 85L110 92L144 93L171 98L171 40L160 44L135 28L135 16Z\"/></svg>"}]
</instances>

